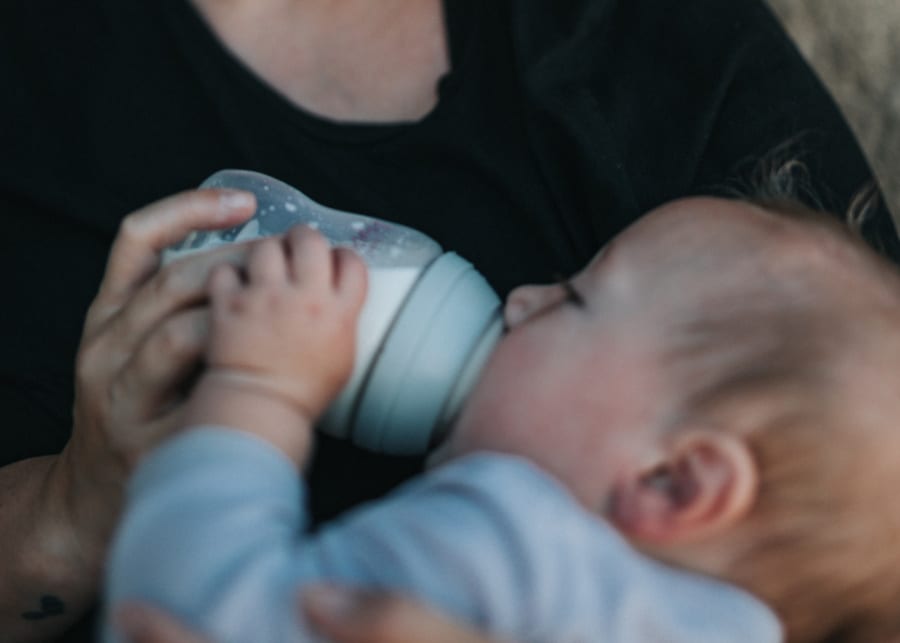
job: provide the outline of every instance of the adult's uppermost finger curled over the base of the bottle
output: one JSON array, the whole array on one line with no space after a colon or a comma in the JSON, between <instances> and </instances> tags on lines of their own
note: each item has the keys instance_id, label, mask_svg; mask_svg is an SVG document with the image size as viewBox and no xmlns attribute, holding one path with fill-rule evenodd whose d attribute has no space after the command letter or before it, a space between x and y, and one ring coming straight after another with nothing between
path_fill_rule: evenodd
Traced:
<instances>
[{"instance_id":1,"label":"adult's uppermost finger curled over the base of the bottle","mask_svg":"<svg viewBox=\"0 0 900 643\"><path fill-rule=\"evenodd\" d=\"M256 199L249 192L190 190L125 217L110 250L98 296L128 297L159 265L159 254L193 230L227 228L250 217Z\"/></svg>"}]
</instances>

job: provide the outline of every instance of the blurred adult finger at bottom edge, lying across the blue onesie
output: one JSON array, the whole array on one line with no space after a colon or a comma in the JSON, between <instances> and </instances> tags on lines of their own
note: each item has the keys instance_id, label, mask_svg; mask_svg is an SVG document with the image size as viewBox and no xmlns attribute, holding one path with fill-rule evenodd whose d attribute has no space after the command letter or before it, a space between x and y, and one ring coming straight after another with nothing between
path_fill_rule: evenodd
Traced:
<instances>
[{"instance_id":1,"label":"blurred adult finger at bottom edge, lying across the blue onesie","mask_svg":"<svg viewBox=\"0 0 900 643\"><path fill-rule=\"evenodd\" d=\"M491 643L406 598L320 586L302 598L309 623L333 643Z\"/></svg>"}]
</instances>

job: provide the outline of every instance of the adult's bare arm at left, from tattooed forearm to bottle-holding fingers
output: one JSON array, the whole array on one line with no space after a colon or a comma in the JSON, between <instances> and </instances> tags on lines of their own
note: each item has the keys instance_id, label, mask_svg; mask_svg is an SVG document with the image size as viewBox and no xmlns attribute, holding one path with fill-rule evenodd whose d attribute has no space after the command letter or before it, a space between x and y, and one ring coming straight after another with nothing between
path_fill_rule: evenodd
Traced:
<instances>
[{"instance_id":1,"label":"adult's bare arm at left, from tattooed forearm to bottle-holding fingers","mask_svg":"<svg viewBox=\"0 0 900 643\"><path fill-rule=\"evenodd\" d=\"M204 345L198 304L206 275L239 255L230 250L159 271L159 252L192 229L245 219L252 197L227 194L185 193L124 219L84 326L72 436L59 455L0 468L4 640L50 639L96 599L124 480L177 425L177 385Z\"/></svg>"}]
</instances>

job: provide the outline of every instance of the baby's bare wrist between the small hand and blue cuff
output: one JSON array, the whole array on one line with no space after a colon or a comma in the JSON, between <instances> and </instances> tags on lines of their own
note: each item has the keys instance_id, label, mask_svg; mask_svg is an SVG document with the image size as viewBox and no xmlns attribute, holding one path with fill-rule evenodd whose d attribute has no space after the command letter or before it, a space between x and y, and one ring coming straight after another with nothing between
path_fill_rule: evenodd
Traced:
<instances>
[{"instance_id":1,"label":"baby's bare wrist between the small hand and blue cuff","mask_svg":"<svg viewBox=\"0 0 900 643\"><path fill-rule=\"evenodd\" d=\"M312 443L312 419L287 396L253 375L205 373L186 410L188 426L217 425L251 433L280 449L302 467Z\"/></svg>"}]
</instances>

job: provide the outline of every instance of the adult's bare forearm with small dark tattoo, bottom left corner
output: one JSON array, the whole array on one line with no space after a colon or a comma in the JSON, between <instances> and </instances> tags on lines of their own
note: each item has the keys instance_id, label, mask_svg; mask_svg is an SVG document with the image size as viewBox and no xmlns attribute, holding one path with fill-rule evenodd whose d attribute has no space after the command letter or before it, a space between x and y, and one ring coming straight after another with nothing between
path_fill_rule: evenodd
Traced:
<instances>
[{"instance_id":1,"label":"adult's bare forearm with small dark tattoo, bottom left corner","mask_svg":"<svg viewBox=\"0 0 900 643\"><path fill-rule=\"evenodd\" d=\"M79 533L68 477L57 456L0 468L0 641L52 639L96 596L108 534Z\"/></svg>"}]
</instances>

